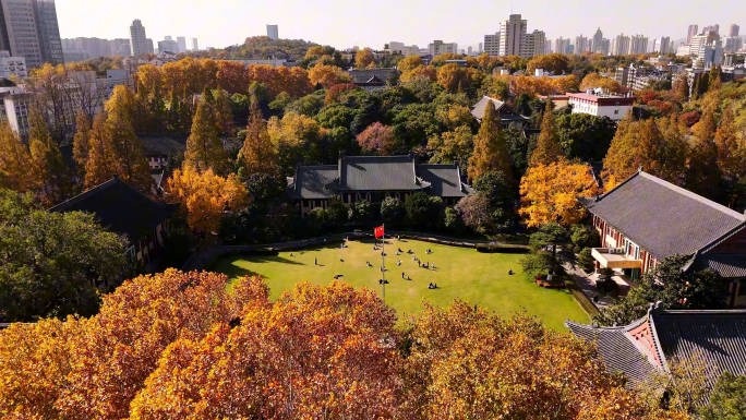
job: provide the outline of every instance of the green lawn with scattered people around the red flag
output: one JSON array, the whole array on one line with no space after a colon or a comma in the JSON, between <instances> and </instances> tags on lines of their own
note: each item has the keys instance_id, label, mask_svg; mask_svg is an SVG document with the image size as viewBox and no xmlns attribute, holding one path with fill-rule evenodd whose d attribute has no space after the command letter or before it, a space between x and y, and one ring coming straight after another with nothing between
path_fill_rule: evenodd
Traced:
<instances>
[{"instance_id":1,"label":"green lawn with scattered people around the red flag","mask_svg":"<svg viewBox=\"0 0 746 420\"><path fill-rule=\"evenodd\" d=\"M292 253L280 252L277 256L226 257L219 260L213 269L232 278L261 275L269 285L273 299L297 283L328 284L334 281L336 274L344 274L341 280L354 287L368 287L381 292L381 250L374 251L371 242L350 241L346 249L337 244ZM399 256L396 255L397 248L404 251ZM422 262L435 263L437 269L419 268L412 255L406 253L410 249ZM425 254L428 249L432 250L432 254ZM423 300L446 307L460 298L486 307L501 316L525 311L557 331L565 331L563 323L568 319L589 321L569 292L546 290L533 284L520 268L521 255L486 254L473 249L409 240L388 240L386 253L386 279L389 280L386 285L386 303L399 314L421 311ZM318 265L314 265L314 259L318 260ZM396 265L399 260L401 266ZM366 266L366 262L373 267ZM516 274L508 275L509 269ZM401 279L402 272L411 280ZM437 284L438 288L428 289L430 283Z\"/></svg>"}]
</instances>

